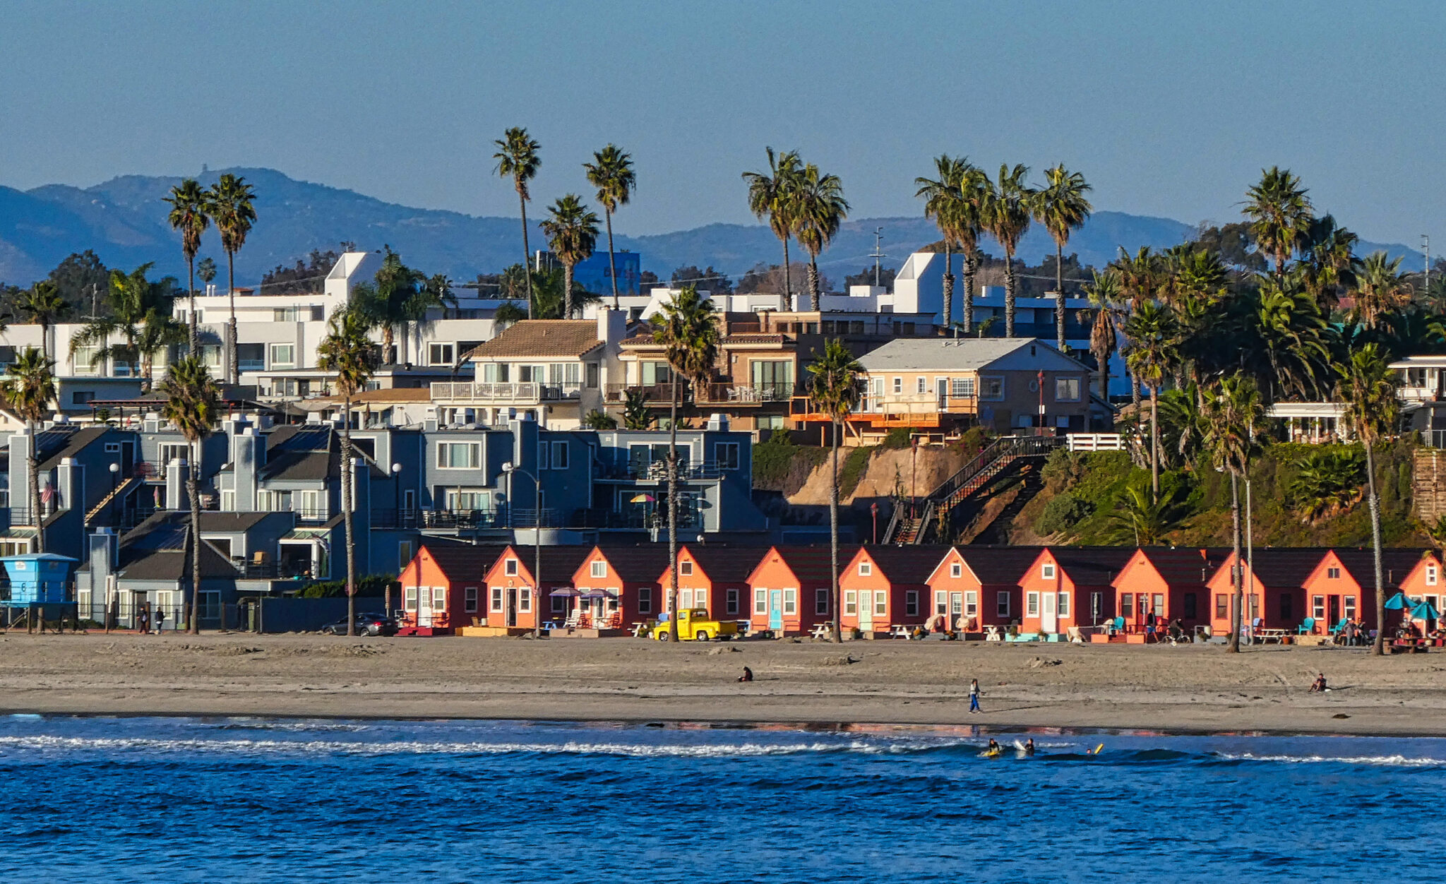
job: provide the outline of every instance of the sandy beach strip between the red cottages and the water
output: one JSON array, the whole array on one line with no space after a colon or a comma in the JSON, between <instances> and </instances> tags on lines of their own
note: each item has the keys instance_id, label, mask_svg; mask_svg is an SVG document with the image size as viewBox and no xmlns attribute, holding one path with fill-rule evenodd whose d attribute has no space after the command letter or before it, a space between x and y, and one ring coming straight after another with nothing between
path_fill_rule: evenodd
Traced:
<instances>
[{"instance_id":1,"label":"sandy beach strip between the red cottages and the water","mask_svg":"<svg viewBox=\"0 0 1446 884\"><path fill-rule=\"evenodd\" d=\"M1446 654L1345 648L9 634L0 660L7 713L1446 735Z\"/></svg>"}]
</instances>

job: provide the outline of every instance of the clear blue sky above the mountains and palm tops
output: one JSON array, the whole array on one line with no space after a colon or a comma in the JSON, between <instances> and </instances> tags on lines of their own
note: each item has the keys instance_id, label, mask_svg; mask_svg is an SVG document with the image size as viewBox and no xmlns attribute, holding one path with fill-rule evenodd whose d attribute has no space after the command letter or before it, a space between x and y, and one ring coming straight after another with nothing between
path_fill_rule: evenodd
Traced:
<instances>
[{"instance_id":1,"label":"clear blue sky above the mountains and palm tops","mask_svg":"<svg viewBox=\"0 0 1446 884\"><path fill-rule=\"evenodd\" d=\"M0 16L0 184L263 165L385 200L516 214L492 140L542 143L538 201L617 142L617 229L748 221L763 146L915 214L940 152L1064 162L1098 208L1233 220L1264 165L1366 239L1446 197L1446 3L68 3Z\"/></svg>"}]
</instances>

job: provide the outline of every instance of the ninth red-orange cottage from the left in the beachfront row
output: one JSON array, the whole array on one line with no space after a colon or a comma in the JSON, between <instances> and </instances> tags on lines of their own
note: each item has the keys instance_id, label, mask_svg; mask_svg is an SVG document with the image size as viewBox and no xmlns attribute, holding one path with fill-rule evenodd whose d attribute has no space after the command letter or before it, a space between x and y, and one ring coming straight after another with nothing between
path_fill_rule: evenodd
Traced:
<instances>
[{"instance_id":1,"label":"ninth red-orange cottage from the left in the beachfront row","mask_svg":"<svg viewBox=\"0 0 1446 884\"><path fill-rule=\"evenodd\" d=\"M1176 619L1186 632L1210 622L1207 586L1229 550L1141 547L1113 580L1119 605L1100 621L1125 618L1126 634L1141 634L1150 613L1164 626Z\"/></svg>"}]
</instances>

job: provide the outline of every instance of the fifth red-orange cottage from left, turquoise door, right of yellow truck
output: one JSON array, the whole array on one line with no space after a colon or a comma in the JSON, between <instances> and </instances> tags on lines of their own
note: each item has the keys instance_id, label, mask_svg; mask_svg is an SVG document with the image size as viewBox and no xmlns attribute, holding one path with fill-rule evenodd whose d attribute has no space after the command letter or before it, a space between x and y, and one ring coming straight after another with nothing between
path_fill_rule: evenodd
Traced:
<instances>
[{"instance_id":1,"label":"fifth red-orange cottage from left, turquoise door, right of yellow truck","mask_svg":"<svg viewBox=\"0 0 1446 884\"><path fill-rule=\"evenodd\" d=\"M769 547L749 573L748 586L753 595L752 631L800 635L833 622L829 547Z\"/></svg>"}]
</instances>

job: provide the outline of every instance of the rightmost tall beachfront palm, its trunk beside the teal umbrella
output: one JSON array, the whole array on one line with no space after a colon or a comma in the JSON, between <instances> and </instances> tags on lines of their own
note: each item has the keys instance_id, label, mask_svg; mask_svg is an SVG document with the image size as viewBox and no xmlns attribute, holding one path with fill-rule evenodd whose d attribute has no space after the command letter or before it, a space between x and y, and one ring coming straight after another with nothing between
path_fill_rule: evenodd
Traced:
<instances>
[{"instance_id":1,"label":"rightmost tall beachfront palm, its trunk beside the teal umbrella","mask_svg":"<svg viewBox=\"0 0 1446 884\"><path fill-rule=\"evenodd\" d=\"M1374 343L1362 344L1351 353L1351 362L1340 366L1336 396L1345 407L1345 420L1365 447L1366 505L1371 509L1371 547L1375 551L1375 648L1381 654L1385 642L1385 593L1381 586L1381 498L1375 490L1375 456L1372 449L1382 435L1394 434L1400 420L1395 398L1395 372L1390 359Z\"/></svg>"}]
</instances>

